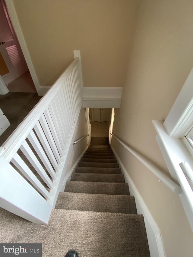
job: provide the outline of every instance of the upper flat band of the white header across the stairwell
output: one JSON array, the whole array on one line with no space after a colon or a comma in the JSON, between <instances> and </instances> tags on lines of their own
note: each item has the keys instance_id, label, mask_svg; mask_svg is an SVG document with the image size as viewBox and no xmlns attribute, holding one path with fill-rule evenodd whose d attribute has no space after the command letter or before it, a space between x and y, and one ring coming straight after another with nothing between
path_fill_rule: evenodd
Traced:
<instances>
[{"instance_id":1,"label":"upper flat band of the white header across the stairwell","mask_svg":"<svg viewBox=\"0 0 193 257\"><path fill-rule=\"evenodd\" d=\"M83 98L121 98L122 87L83 87Z\"/></svg>"}]
</instances>

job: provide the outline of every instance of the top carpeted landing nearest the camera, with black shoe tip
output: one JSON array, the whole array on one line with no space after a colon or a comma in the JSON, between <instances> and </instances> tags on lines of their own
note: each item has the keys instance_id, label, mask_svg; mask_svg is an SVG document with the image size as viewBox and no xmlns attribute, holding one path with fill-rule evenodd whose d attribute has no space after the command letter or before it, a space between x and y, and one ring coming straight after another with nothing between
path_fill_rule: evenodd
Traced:
<instances>
[{"instance_id":1,"label":"top carpeted landing nearest the camera, with black shoe tip","mask_svg":"<svg viewBox=\"0 0 193 257\"><path fill-rule=\"evenodd\" d=\"M48 224L1 214L0 241L43 244L42 256L150 257L143 215L53 209Z\"/></svg>"}]
</instances>

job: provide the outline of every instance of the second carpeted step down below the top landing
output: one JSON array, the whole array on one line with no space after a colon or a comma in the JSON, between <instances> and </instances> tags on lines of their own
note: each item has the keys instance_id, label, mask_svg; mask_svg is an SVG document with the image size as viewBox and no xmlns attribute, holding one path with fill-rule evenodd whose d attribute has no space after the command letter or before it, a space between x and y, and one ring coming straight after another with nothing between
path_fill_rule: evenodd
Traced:
<instances>
[{"instance_id":1,"label":"second carpeted step down below the top landing","mask_svg":"<svg viewBox=\"0 0 193 257\"><path fill-rule=\"evenodd\" d=\"M129 195L129 187L127 183L67 181L64 192Z\"/></svg>"}]
</instances>

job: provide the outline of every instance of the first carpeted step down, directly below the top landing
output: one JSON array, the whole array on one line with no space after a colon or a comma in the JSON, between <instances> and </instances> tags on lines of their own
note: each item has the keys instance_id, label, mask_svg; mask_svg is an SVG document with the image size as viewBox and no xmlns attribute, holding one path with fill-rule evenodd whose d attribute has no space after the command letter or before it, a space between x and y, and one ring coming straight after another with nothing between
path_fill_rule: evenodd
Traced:
<instances>
[{"instance_id":1,"label":"first carpeted step down, directly below the top landing","mask_svg":"<svg viewBox=\"0 0 193 257\"><path fill-rule=\"evenodd\" d=\"M60 192L55 208L137 214L134 196Z\"/></svg>"}]
</instances>

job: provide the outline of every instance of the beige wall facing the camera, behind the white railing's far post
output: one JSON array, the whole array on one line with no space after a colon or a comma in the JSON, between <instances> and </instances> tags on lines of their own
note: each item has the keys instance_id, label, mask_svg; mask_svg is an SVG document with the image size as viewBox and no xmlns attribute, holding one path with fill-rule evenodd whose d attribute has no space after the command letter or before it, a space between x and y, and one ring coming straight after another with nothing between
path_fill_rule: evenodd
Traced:
<instances>
[{"instance_id":1,"label":"beige wall facing the camera, behind the white railing's far post","mask_svg":"<svg viewBox=\"0 0 193 257\"><path fill-rule=\"evenodd\" d=\"M81 51L84 86L120 86L136 0L13 0L40 86L51 86Z\"/></svg>"}]
</instances>

